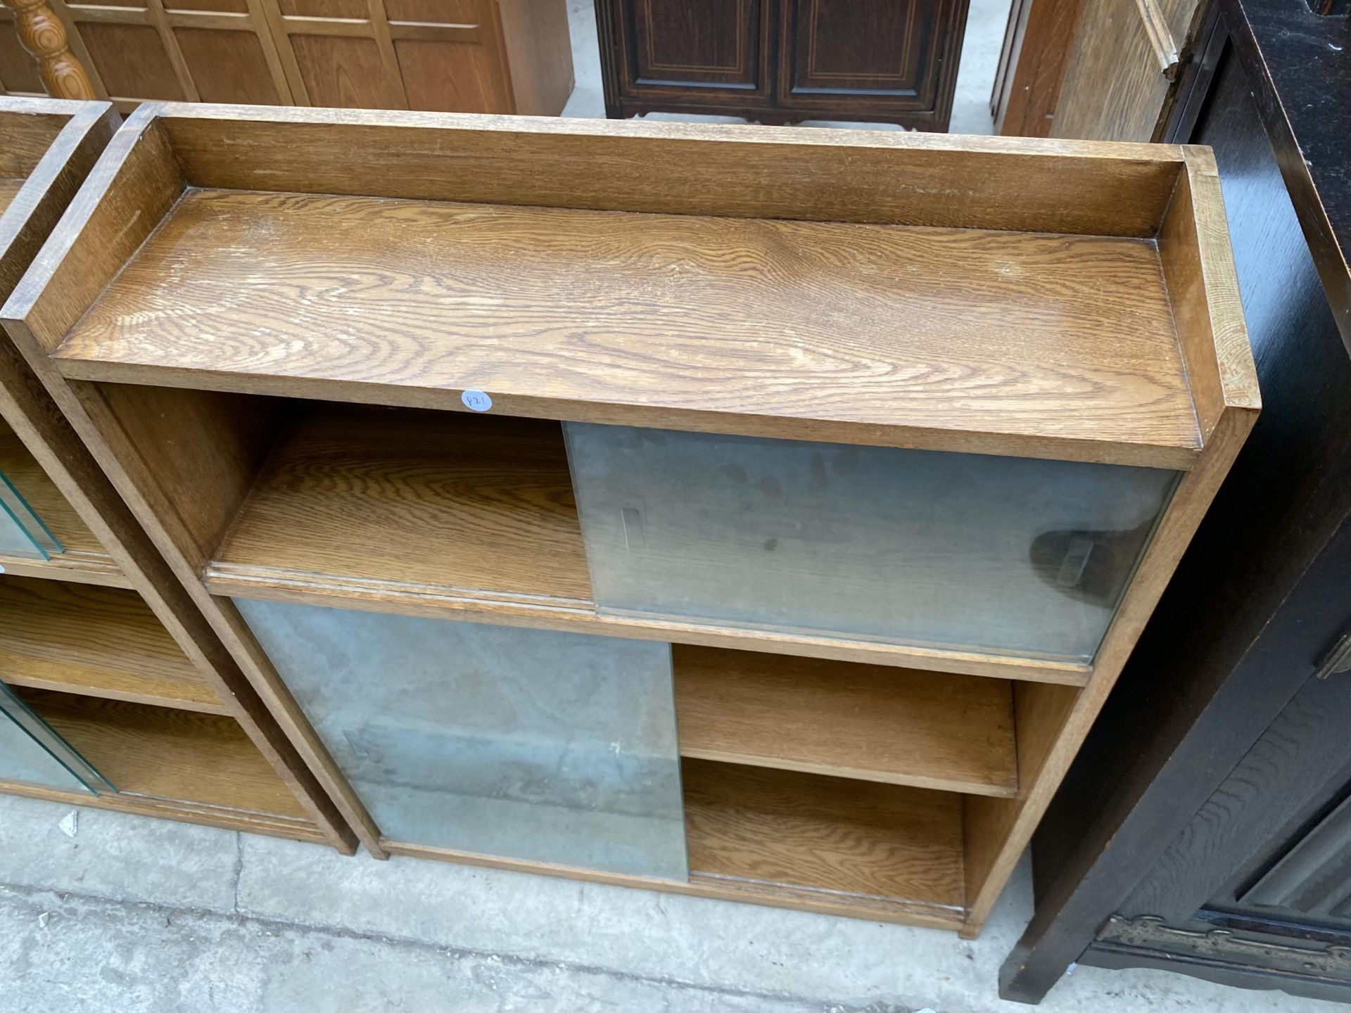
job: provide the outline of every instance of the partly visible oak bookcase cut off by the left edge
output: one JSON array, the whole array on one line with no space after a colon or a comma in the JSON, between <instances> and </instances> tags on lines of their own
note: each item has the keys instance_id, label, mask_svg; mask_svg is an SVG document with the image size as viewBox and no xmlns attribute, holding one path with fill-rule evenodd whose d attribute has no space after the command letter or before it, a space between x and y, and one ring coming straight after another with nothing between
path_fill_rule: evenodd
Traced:
<instances>
[{"instance_id":1,"label":"partly visible oak bookcase cut off by the left edge","mask_svg":"<svg viewBox=\"0 0 1351 1013\"><path fill-rule=\"evenodd\" d=\"M0 298L118 122L107 103L0 97ZM346 821L7 340L0 484L0 702L19 721L0 715L0 791L353 851Z\"/></svg>"}]
</instances>

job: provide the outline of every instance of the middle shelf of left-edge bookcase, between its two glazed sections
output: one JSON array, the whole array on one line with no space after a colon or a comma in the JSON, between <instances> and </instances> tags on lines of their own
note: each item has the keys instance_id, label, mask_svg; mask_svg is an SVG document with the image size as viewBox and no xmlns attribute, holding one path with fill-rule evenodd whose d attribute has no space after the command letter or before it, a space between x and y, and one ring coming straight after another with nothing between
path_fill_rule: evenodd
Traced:
<instances>
[{"instance_id":1,"label":"middle shelf of left-edge bookcase, between its two glazed sections","mask_svg":"<svg viewBox=\"0 0 1351 1013\"><path fill-rule=\"evenodd\" d=\"M12 686L226 713L135 592L0 579L0 679Z\"/></svg>"}]
</instances>

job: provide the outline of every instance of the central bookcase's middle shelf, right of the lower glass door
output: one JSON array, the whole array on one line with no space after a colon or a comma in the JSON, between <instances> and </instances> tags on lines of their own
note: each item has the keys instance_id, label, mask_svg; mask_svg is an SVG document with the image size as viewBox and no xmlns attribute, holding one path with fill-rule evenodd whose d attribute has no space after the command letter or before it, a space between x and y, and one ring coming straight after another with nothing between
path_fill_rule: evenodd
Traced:
<instances>
[{"instance_id":1,"label":"central bookcase's middle shelf, right of the lower glass door","mask_svg":"<svg viewBox=\"0 0 1351 1013\"><path fill-rule=\"evenodd\" d=\"M1012 798L1008 682L674 650L681 756Z\"/></svg>"}]
</instances>

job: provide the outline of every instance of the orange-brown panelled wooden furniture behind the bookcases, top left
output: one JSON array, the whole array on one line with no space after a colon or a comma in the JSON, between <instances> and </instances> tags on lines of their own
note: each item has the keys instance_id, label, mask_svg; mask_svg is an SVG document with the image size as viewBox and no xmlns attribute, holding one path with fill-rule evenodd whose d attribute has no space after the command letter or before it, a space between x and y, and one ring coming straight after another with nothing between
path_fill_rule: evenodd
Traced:
<instances>
[{"instance_id":1,"label":"orange-brown panelled wooden furniture behind the bookcases, top left","mask_svg":"<svg viewBox=\"0 0 1351 1013\"><path fill-rule=\"evenodd\" d=\"M20 11L31 0L7 0ZM92 96L557 116L566 0L89 0L49 5ZM42 95L0 8L0 90ZM50 89L49 89L50 90ZM69 92L59 92L69 97Z\"/></svg>"}]
</instances>

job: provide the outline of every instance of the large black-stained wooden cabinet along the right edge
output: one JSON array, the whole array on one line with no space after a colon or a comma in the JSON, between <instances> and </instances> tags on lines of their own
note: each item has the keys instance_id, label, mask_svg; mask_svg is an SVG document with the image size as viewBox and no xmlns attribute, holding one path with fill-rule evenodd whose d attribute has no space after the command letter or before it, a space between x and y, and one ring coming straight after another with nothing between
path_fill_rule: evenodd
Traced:
<instances>
[{"instance_id":1,"label":"large black-stained wooden cabinet along the right edge","mask_svg":"<svg viewBox=\"0 0 1351 1013\"><path fill-rule=\"evenodd\" d=\"M1351 26L1202 24L1165 135L1215 149L1263 416L1035 837L1008 998L1078 960L1351 999Z\"/></svg>"}]
</instances>

